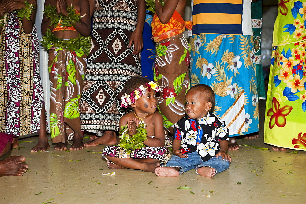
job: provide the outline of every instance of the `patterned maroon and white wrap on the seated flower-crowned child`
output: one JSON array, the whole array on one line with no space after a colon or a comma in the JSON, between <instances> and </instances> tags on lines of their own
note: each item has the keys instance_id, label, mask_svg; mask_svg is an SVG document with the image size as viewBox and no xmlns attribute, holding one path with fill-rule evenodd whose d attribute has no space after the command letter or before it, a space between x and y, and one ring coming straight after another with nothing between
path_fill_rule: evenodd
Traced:
<instances>
[{"instance_id":1,"label":"patterned maroon and white wrap on the seated flower-crowned child","mask_svg":"<svg viewBox=\"0 0 306 204\"><path fill-rule=\"evenodd\" d=\"M144 147L141 149L132 150L131 153L126 153L124 148L117 145L111 145L111 146L106 146L103 149L102 156L104 158L105 158L104 155L107 155L116 158L158 159L161 161L161 166L164 166L172 156L171 149L172 149L172 142L166 136L165 132L165 147ZM109 161L108 159L106 160Z\"/></svg>"}]
</instances>

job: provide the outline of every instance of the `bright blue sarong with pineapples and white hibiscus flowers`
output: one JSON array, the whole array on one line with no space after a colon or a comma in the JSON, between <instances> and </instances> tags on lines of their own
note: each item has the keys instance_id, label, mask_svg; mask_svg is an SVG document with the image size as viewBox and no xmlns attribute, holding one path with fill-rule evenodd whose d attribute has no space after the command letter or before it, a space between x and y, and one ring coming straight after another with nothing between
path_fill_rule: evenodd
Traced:
<instances>
[{"instance_id":1,"label":"bright blue sarong with pineapples and white hibiscus flowers","mask_svg":"<svg viewBox=\"0 0 306 204\"><path fill-rule=\"evenodd\" d=\"M190 85L207 84L216 97L213 113L230 137L259 130L257 80L250 35L200 34L190 38Z\"/></svg>"}]
</instances>

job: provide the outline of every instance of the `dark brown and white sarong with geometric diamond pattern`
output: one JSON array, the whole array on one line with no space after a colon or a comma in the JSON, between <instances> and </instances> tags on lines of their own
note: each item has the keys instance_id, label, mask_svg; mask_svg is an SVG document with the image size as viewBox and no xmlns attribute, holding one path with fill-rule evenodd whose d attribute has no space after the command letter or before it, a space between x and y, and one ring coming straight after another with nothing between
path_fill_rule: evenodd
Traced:
<instances>
[{"instance_id":1,"label":"dark brown and white sarong with geometric diamond pattern","mask_svg":"<svg viewBox=\"0 0 306 204\"><path fill-rule=\"evenodd\" d=\"M127 111L120 106L125 82L141 76L140 54L132 54L134 45L128 47L136 25L135 0L95 0L82 94L82 129L119 131L119 119Z\"/></svg>"}]
</instances>

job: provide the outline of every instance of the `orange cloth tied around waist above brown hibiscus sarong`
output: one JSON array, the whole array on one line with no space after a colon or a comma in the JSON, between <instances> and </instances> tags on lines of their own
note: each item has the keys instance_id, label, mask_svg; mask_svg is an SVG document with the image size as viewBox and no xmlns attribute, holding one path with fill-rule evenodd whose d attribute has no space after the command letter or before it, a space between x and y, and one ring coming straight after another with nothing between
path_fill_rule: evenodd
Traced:
<instances>
[{"instance_id":1,"label":"orange cloth tied around waist above brown hibiscus sarong","mask_svg":"<svg viewBox=\"0 0 306 204\"><path fill-rule=\"evenodd\" d=\"M182 33L183 31L185 31L185 28L191 30L192 22L190 20L184 21L184 19L181 17L181 14L174 10L172 17L166 24L162 24L159 20L159 17L155 13L151 23L151 27L153 40L155 42L159 42L161 40Z\"/></svg>"}]
</instances>

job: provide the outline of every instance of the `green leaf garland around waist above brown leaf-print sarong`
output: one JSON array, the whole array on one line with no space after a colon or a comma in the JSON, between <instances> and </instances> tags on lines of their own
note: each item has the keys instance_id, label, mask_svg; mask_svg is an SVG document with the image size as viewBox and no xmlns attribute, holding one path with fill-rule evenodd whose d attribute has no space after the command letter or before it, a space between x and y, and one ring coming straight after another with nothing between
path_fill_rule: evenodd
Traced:
<instances>
[{"instance_id":1,"label":"green leaf garland around waist above brown leaf-print sarong","mask_svg":"<svg viewBox=\"0 0 306 204\"><path fill-rule=\"evenodd\" d=\"M40 41L42 46L48 50L54 47L55 50L72 50L75 51L77 56L80 57L83 54L88 55L90 49L90 37L81 36L79 34L78 38L70 38L69 40L64 40L62 38L56 37L50 29L47 30L45 35Z\"/></svg>"}]
</instances>

